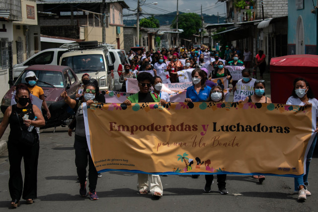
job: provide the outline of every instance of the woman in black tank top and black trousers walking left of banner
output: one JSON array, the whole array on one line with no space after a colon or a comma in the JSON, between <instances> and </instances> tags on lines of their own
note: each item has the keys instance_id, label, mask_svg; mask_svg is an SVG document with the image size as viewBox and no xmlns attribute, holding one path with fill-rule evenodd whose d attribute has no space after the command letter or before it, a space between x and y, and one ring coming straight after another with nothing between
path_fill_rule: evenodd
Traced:
<instances>
[{"instance_id":1,"label":"woman in black tank top and black trousers walking left of banner","mask_svg":"<svg viewBox=\"0 0 318 212\"><path fill-rule=\"evenodd\" d=\"M10 135L7 144L9 163L10 163L10 178L9 192L11 196L11 207L19 206L19 201L22 198L27 204L33 203L33 199L37 198L37 165L39 157L39 141L35 145L29 146L20 141L21 130L27 131L29 126L34 126L32 133L36 134L35 127L43 127L45 120L40 109L31 104L29 99L30 91L24 84L19 84L16 87L15 100L17 104L8 107L0 124L0 138L2 137L8 124L10 124ZM36 120L33 120L37 117ZM37 137L38 138L38 137ZM21 160L24 160L25 177L24 186L21 175ZM23 191L23 193L22 193Z\"/></svg>"}]
</instances>

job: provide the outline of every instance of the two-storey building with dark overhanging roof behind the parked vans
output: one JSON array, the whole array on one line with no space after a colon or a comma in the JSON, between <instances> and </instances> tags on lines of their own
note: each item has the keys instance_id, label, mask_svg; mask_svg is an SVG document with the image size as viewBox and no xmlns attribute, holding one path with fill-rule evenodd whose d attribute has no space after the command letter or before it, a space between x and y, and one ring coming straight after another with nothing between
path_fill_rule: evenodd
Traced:
<instances>
[{"instance_id":1,"label":"two-storey building with dark overhanging roof behind the parked vans","mask_svg":"<svg viewBox=\"0 0 318 212\"><path fill-rule=\"evenodd\" d=\"M41 34L102 42L102 0L38 1ZM106 43L124 48L123 0L106 0ZM50 15L51 13L51 15Z\"/></svg>"}]
</instances>

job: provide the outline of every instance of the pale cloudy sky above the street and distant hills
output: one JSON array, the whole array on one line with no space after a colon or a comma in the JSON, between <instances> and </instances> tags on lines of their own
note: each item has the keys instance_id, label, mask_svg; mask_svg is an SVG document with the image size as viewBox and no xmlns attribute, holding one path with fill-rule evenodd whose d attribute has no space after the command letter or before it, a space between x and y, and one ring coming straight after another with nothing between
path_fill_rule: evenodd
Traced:
<instances>
[{"instance_id":1,"label":"pale cloudy sky above the street and distant hills","mask_svg":"<svg viewBox=\"0 0 318 212\"><path fill-rule=\"evenodd\" d=\"M219 12L220 16L225 16L225 3L217 1L218 0L179 0L178 9L181 12L195 12L200 14L202 4L202 13L217 15ZM137 0L125 0L125 2L131 9L137 8ZM177 0L140 0L140 2L143 12L149 14L164 14L177 10ZM154 5L152 2L158 2L158 4ZM125 9L123 13L132 14L134 12Z\"/></svg>"}]
</instances>

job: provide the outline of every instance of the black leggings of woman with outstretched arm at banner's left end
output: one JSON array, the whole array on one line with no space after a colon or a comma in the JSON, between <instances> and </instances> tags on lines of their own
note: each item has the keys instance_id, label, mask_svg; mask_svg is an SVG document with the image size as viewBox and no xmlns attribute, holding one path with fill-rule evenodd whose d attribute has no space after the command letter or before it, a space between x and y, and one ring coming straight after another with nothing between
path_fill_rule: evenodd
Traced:
<instances>
[{"instance_id":1,"label":"black leggings of woman with outstretched arm at banner's left end","mask_svg":"<svg viewBox=\"0 0 318 212\"><path fill-rule=\"evenodd\" d=\"M86 137L75 135L75 164L77 167L77 172L79 176L79 183L84 184L86 181L86 167L88 162L88 179L89 179L89 189L95 190L97 185L98 173L94 166L93 160L91 159Z\"/></svg>"}]
</instances>

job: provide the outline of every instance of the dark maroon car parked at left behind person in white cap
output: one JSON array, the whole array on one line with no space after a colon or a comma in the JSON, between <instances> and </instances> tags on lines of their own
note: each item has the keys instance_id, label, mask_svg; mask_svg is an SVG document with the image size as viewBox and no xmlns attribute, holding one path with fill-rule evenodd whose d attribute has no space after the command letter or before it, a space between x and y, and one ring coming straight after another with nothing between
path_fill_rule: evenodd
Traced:
<instances>
[{"instance_id":1,"label":"dark maroon car parked at left behind person in white cap","mask_svg":"<svg viewBox=\"0 0 318 212\"><path fill-rule=\"evenodd\" d=\"M51 113L51 118L47 120L46 111L42 109L46 119L44 128L65 126L67 120L72 117L73 111L68 112L68 105L62 99L61 93L66 90L71 97L75 97L76 90L80 86L75 72L67 66L34 65L26 68L2 98L1 112L4 114L6 108L11 105L13 88L19 83L26 83L25 76L28 71L33 71L38 78L37 85L43 89Z\"/></svg>"}]
</instances>

